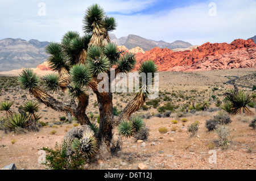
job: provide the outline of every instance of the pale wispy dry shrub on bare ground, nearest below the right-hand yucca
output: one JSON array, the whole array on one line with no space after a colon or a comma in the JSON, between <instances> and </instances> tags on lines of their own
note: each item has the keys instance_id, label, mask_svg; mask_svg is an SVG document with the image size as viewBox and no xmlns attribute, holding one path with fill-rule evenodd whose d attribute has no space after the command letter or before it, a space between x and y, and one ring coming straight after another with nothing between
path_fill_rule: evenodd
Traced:
<instances>
[{"instance_id":1,"label":"pale wispy dry shrub on bare ground, nearest below the right-hand yucca","mask_svg":"<svg viewBox=\"0 0 256 181\"><path fill-rule=\"evenodd\" d=\"M216 133L218 135L217 144L221 146L222 149L227 149L229 147L228 137L229 130L225 125L218 125L216 128Z\"/></svg>"}]
</instances>

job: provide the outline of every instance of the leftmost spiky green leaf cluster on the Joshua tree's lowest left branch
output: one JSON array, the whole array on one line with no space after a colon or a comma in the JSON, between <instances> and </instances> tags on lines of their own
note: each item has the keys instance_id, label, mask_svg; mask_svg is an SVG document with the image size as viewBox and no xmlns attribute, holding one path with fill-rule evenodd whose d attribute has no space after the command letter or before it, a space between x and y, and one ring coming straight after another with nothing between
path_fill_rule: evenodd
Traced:
<instances>
[{"instance_id":1,"label":"leftmost spiky green leaf cluster on the Joshua tree's lowest left branch","mask_svg":"<svg viewBox=\"0 0 256 181\"><path fill-rule=\"evenodd\" d=\"M23 89L34 90L38 86L39 78L31 69L24 69L18 77L18 81Z\"/></svg>"}]
</instances>

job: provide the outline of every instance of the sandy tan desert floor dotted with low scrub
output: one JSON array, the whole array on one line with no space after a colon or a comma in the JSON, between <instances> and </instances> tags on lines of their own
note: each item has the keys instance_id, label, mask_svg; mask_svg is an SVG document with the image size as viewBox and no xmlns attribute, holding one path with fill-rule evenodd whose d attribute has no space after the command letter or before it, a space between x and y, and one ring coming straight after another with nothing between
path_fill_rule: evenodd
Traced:
<instances>
[{"instance_id":1,"label":"sandy tan desert floor dotted with low scrub","mask_svg":"<svg viewBox=\"0 0 256 181\"><path fill-rule=\"evenodd\" d=\"M48 71L39 71L39 75ZM27 91L20 89L16 82L19 71L0 72L0 101L14 101L11 110L18 112L18 107L27 100L35 100ZM101 159L96 163L86 165L84 169L138 169L139 163L144 163L148 170L172 169L256 169L256 132L249 127L249 123L256 116L255 107L250 110L253 116L232 115L232 123L226 125L229 129L228 148L223 149L215 145L216 132L208 132L205 121L217 115L221 110L216 106L218 101L224 99L224 92L233 86L225 83L232 76L237 76L238 85L253 87L256 85L256 69L228 69L193 72L160 72L159 73L159 105L170 102L177 109L170 117L158 117L158 109L146 105L135 114L144 116L144 121L150 129L148 139L137 142L135 138L123 139L122 150L118 155L108 159ZM251 89L239 87L247 92ZM90 91L88 112L97 117L98 107L96 96ZM254 91L255 94L255 91ZM133 98L133 94L114 93L113 105L120 111ZM56 95L63 100L63 95ZM210 108L207 111L185 112L177 111L192 100L202 103L207 100ZM10 163L15 163L18 170L46 169L39 163L40 148L53 148L61 143L64 135L73 127L81 127L74 120L72 123L60 121L64 113L56 112L40 104L40 115L44 126L39 132L5 133L0 130L0 169ZM0 118L5 117L0 111ZM187 122L181 121L183 118ZM172 120L177 120L175 123ZM95 120L97 123L97 120ZM190 137L187 128L194 121L200 121L199 131ZM54 126L53 126L54 125ZM160 133L159 128L166 127L167 133ZM53 130L55 132L53 133ZM117 132L115 132L117 133ZM214 155L215 154L215 155ZM216 156L216 162L212 162Z\"/></svg>"}]
</instances>

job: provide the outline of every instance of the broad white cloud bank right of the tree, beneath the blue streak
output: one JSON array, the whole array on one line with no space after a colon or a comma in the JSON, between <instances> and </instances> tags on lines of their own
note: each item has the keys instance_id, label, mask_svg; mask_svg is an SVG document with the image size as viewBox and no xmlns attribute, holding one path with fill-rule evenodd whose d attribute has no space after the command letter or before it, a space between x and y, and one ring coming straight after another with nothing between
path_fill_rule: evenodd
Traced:
<instances>
[{"instance_id":1,"label":"broad white cloud bank right of the tree, beneath the blue streak","mask_svg":"<svg viewBox=\"0 0 256 181\"><path fill-rule=\"evenodd\" d=\"M256 35L255 1L216 1L217 14L209 16L209 2L156 15L117 16L120 37L127 33L154 40L189 41L192 44L230 43Z\"/></svg>"}]
</instances>

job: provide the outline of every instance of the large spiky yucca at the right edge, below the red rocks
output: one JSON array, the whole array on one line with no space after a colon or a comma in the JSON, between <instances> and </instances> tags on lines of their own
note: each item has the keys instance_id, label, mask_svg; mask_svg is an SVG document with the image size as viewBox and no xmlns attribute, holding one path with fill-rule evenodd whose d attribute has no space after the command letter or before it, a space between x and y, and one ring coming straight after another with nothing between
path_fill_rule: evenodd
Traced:
<instances>
[{"instance_id":1,"label":"large spiky yucca at the right edge, below the red rocks","mask_svg":"<svg viewBox=\"0 0 256 181\"><path fill-rule=\"evenodd\" d=\"M225 94L225 99L230 103L224 104L222 109L230 112L233 115L245 113L247 115L253 115L253 112L247 108L247 104L253 102L253 96L251 94L246 94L242 90L238 90L237 86L234 84L234 89L230 89ZM232 105L232 108L230 109Z\"/></svg>"}]
</instances>

